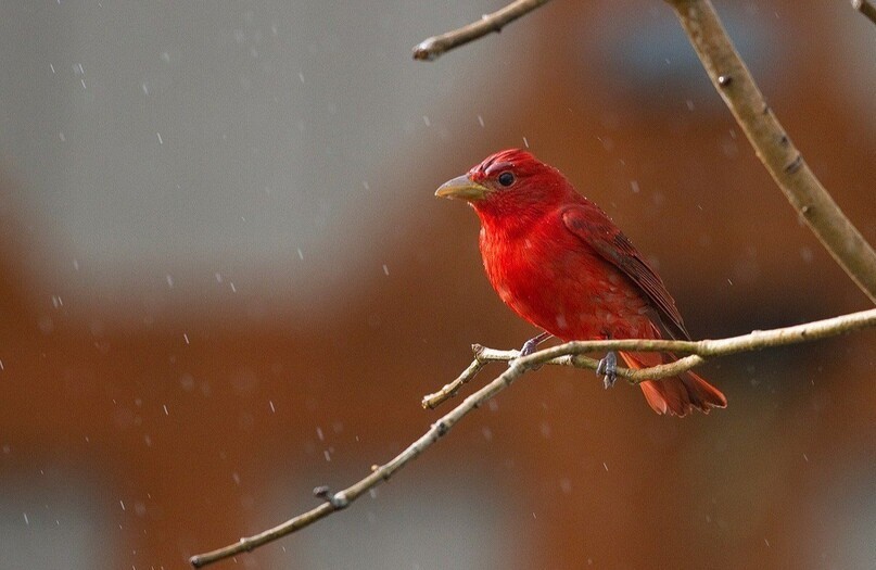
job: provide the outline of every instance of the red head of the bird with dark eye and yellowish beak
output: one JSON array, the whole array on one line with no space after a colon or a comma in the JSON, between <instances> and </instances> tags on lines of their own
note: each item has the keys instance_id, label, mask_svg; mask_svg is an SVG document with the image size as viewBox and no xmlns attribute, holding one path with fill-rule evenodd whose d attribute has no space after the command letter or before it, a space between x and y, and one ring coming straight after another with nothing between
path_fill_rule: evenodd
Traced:
<instances>
[{"instance_id":1,"label":"red head of the bird with dark eye and yellowish beak","mask_svg":"<svg viewBox=\"0 0 876 570\"><path fill-rule=\"evenodd\" d=\"M435 195L465 200L483 220L536 215L562 203L569 192L574 190L559 170L526 151L509 149L444 182Z\"/></svg>"}]
</instances>

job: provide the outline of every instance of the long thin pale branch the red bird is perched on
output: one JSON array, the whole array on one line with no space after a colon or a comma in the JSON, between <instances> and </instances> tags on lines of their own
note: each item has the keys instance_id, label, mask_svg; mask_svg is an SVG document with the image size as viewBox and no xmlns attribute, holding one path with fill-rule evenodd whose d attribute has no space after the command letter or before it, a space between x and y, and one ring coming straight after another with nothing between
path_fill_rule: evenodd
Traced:
<instances>
[{"instance_id":1,"label":"long thin pale branch the red bird is perched on","mask_svg":"<svg viewBox=\"0 0 876 570\"><path fill-rule=\"evenodd\" d=\"M798 325L796 327L774 329L769 331L754 331L750 334L722 340L579 341L551 346L521 358L515 357L515 353L517 353L517 351L491 351L490 349L483 349L480 355L483 362L486 362L486 359L502 360L511 358L515 358L515 360L511 363L511 366L496 379L468 396L449 413L442 416L441 419L433 423L420 439L411 443L404 452L395 456L388 464L372 467L371 473L368 477L339 493L330 493L325 487L317 487L315 493L317 496L325 499L325 503L320 504L318 507L299 515L297 517L275 527L274 529L269 529L254 536L241 539L239 542L230 544L224 548L192 556L190 562L195 568L199 568L244 552L250 552L253 548L262 546L263 544L301 530L304 527L307 527L337 510L346 508L366 491L379 485L383 481L389 480L390 477L392 477L396 471L416 459L427 448L450 431L450 428L462 419L462 417L482 406L490 398L511 385L511 383L519 379L523 373L544 364L553 363L556 359L568 358L571 355L574 357L576 365L589 360L587 368L595 368L595 366L592 366L595 360L592 358L587 358L586 360L581 359L581 357L577 355L606 350L634 352L672 351L680 354L691 355L682 358L676 363L672 363L671 365L643 368L642 370L618 370L618 376L623 376L635 383L646 379L658 379L677 375L683 370L687 370L697 364L702 363L706 357L725 356L765 347L809 342L868 327L876 327L876 308L863 311L861 313L852 313L850 315L842 315L840 317L834 317L826 320L809 322L805 325ZM481 360L475 359L475 362L480 363ZM557 360L557 364L560 364L560 362L561 360ZM471 368L471 366L469 368Z\"/></svg>"}]
</instances>

